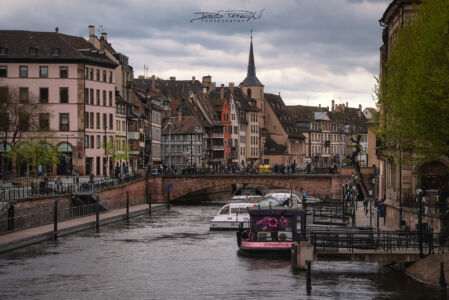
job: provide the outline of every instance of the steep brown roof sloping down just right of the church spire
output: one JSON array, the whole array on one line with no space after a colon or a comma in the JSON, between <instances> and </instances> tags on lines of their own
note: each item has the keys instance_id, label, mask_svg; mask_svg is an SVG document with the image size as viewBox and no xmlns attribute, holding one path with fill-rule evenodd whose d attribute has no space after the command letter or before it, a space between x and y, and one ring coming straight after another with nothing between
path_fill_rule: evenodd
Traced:
<instances>
[{"instance_id":1,"label":"steep brown roof sloping down just right of the church spire","mask_svg":"<svg viewBox=\"0 0 449 300\"><path fill-rule=\"evenodd\" d=\"M279 122L284 128L289 137L292 138L305 138L301 133L301 130L296 126L295 118L282 100L281 96L274 94L264 94L265 100L271 106L271 109L276 114Z\"/></svg>"}]
</instances>

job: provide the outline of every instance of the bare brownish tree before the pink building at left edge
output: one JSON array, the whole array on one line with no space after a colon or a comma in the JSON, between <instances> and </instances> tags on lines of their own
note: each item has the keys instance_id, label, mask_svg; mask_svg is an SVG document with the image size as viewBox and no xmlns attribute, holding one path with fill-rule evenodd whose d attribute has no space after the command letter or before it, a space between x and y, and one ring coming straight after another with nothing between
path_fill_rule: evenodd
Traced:
<instances>
[{"instance_id":1,"label":"bare brownish tree before the pink building at left edge","mask_svg":"<svg viewBox=\"0 0 449 300\"><path fill-rule=\"evenodd\" d=\"M39 131L39 113L44 106L38 97L30 95L28 88L0 86L0 143L3 154L7 145L12 148L24 138L26 132ZM2 168L4 165L2 155Z\"/></svg>"}]
</instances>

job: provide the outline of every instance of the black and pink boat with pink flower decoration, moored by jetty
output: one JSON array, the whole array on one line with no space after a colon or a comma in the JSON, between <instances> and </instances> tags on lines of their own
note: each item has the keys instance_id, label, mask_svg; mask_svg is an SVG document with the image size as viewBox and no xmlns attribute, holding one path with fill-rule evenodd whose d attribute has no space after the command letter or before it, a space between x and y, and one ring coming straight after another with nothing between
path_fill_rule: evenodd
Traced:
<instances>
[{"instance_id":1,"label":"black and pink boat with pink flower decoration, moored by jetty","mask_svg":"<svg viewBox=\"0 0 449 300\"><path fill-rule=\"evenodd\" d=\"M305 237L307 212L300 208L248 208L249 229L237 231L237 245L245 253L289 254L295 241Z\"/></svg>"}]
</instances>

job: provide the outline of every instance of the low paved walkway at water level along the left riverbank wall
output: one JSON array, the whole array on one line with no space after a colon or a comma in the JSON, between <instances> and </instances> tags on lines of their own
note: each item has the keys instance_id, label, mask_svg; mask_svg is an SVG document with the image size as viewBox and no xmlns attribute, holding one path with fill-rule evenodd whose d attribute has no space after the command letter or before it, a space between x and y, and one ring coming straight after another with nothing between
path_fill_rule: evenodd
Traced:
<instances>
[{"instance_id":1,"label":"low paved walkway at water level along the left riverbank wall","mask_svg":"<svg viewBox=\"0 0 449 300\"><path fill-rule=\"evenodd\" d=\"M160 211L165 209L165 204L152 204L151 211ZM148 214L148 204L140 204L129 207L129 216ZM126 207L114 209L100 214L100 225L116 222L126 219ZM71 219L58 222L58 236L67 235L81 230L95 227L96 216L90 215L86 217ZM100 228L101 230L101 228ZM53 224L33 227L21 231L11 232L0 235L0 253L12 249L24 247L34 243L51 240L53 238Z\"/></svg>"}]
</instances>

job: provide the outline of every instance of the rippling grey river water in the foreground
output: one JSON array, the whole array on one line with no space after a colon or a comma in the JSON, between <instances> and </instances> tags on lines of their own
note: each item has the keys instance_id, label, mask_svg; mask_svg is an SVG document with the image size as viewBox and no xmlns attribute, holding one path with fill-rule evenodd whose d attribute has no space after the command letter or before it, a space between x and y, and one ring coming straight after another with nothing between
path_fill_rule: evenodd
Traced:
<instances>
[{"instance_id":1,"label":"rippling grey river water in the foreground","mask_svg":"<svg viewBox=\"0 0 449 300\"><path fill-rule=\"evenodd\" d=\"M443 299L439 290L377 263L239 255L235 232L209 220L229 195L0 254L0 299ZM445 299L445 298L444 298Z\"/></svg>"}]
</instances>

